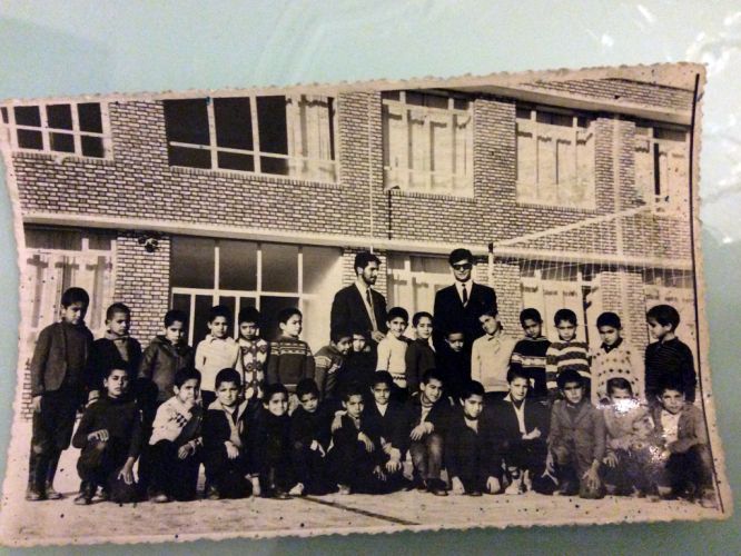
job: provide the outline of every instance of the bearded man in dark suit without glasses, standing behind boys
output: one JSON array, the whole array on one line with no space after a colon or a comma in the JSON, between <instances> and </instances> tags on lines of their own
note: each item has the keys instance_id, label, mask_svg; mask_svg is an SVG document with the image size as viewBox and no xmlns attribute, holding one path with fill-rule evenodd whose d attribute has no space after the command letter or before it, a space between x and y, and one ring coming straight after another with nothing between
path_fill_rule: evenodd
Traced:
<instances>
[{"instance_id":1,"label":"bearded man in dark suit without glasses, standing behind boys","mask_svg":"<svg viewBox=\"0 0 741 556\"><path fill-rule=\"evenodd\" d=\"M333 330L365 330L368 345L375 346L386 335L386 298L373 289L378 278L381 259L368 251L355 256L357 279L340 289L332 302Z\"/></svg>"}]
</instances>

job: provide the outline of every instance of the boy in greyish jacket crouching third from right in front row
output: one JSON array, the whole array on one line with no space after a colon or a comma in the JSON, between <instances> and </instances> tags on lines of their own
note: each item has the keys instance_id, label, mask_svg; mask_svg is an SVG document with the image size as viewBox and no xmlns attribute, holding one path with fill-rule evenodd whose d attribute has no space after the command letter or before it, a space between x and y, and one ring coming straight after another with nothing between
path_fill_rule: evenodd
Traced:
<instances>
[{"instance_id":1,"label":"boy in greyish jacket crouching third from right in front row","mask_svg":"<svg viewBox=\"0 0 741 556\"><path fill-rule=\"evenodd\" d=\"M599 471L605 451L604 418L590 404L584 380L575 369L559 374L563 399L555 400L551 410L546 466L555 469L559 494L602 498Z\"/></svg>"}]
</instances>

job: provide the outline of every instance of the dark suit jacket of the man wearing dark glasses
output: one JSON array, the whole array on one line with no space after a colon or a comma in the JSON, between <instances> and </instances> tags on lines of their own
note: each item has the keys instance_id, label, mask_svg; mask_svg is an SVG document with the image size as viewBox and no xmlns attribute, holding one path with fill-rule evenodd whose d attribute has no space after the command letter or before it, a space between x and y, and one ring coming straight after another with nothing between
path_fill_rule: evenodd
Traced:
<instances>
[{"instance_id":1,"label":"dark suit jacket of the man wearing dark glasses","mask_svg":"<svg viewBox=\"0 0 741 556\"><path fill-rule=\"evenodd\" d=\"M496 309L496 294L488 286L473 282L468 302L463 306L455 285L441 289L435 294L433 342L435 349L445 346L445 335L449 330L458 329L466 338L466 350L471 350L473 341L483 336L484 331L478 321L485 311Z\"/></svg>"}]
</instances>

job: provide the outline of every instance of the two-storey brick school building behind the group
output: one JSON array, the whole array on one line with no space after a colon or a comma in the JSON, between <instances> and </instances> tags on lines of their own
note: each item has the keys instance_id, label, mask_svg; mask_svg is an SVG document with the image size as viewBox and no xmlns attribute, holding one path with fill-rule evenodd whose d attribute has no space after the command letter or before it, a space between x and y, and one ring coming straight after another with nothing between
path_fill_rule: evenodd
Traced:
<instances>
[{"instance_id":1,"label":"two-storey brick school building behind the group","mask_svg":"<svg viewBox=\"0 0 741 556\"><path fill-rule=\"evenodd\" d=\"M97 335L113 300L144 344L169 307L195 344L215 302L258 306L267 337L298 305L316 350L364 248L411 312L467 247L513 332L525 306L546 324L570 307L596 345L596 315L615 310L643 345L646 307L665 301L693 345L692 106L691 82L644 70L6 102L21 359L71 285L92 294Z\"/></svg>"}]
</instances>

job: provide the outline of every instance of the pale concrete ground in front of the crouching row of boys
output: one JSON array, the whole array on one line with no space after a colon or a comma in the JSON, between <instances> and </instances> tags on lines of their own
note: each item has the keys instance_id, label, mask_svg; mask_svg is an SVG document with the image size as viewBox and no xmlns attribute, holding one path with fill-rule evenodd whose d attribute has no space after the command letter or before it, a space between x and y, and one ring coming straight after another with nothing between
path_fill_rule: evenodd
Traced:
<instances>
[{"instance_id":1,"label":"pale concrete ground in front of the crouching row of boys","mask_svg":"<svg viewBox=\"0 0 741 556\"><path fill-rule=\"evenodd\" d=\"M651 503L610 496L602 500L583 500L534 493L480 498L436 497L416 490L385 496L335 494L290 500L247 498L76 506L72 498L79 478L75 449L62 455L55 485L65 494L65 499L30 503L23 499L30 426L17 425L0 513L3 544L137 543L722 517L718 510L681 500Z\"/></svg>"}]
</instances>

